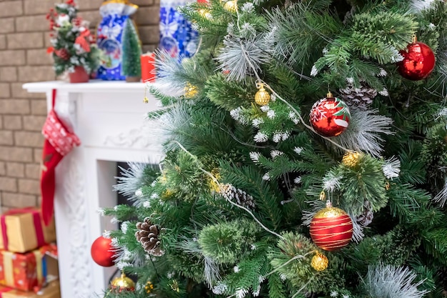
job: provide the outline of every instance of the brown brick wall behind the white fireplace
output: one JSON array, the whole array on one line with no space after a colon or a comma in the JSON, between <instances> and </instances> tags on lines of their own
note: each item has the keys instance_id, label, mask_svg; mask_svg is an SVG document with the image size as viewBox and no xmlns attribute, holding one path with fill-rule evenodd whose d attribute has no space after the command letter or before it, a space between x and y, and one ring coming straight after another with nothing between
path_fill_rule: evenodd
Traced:
<instances>
[{"instance_id":1,"label":"brown brick wall behind the white fireplace","mask_svg":"<svg viewBox=\"0 0 447 298\"><path fill-rule=\"evenodd\" d=\"M46 13L60 0L0 0L0 202L1 211L40 204L43 94L21 88L29 81L54 80ZM102 0L77 0L79 15L94 29ZM134 0L143 51L159 42L159 0Z\"/></svg>"}]
</instances>

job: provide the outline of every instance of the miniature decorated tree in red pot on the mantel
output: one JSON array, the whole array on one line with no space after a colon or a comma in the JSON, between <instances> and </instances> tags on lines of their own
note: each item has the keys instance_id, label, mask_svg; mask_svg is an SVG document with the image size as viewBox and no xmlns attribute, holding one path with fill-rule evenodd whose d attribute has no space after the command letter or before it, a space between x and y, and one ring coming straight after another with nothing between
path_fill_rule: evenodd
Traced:
<instances>
[{"instance_id":1,"label":"miniature decorated tree in red pot on the mantel","mask_svg":"<svg viewBox=\"0 0 447 298\"><path fill-rule=\"evenodd\" d=\"M89 30L89 23L77 16L74 0L56 4L46 19L52 30L47 49L54 59L54 71L59 76L68 71L71 83L84 83L99 66L99 49Z\"/></svg>"}]
</instances>

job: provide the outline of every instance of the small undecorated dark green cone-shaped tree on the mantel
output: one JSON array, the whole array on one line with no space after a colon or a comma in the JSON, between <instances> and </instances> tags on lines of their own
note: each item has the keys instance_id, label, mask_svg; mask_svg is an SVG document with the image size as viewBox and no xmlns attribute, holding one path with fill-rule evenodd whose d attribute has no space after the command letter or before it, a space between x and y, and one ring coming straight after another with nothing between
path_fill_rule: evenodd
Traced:
<instances>
[{"instance_id":1,"label":"small undecorated dark green cone-shaped tree on the mantel","mask_svg":"<svg viewBox=\"0 0 447 298\"><path fill-rule=\"evenodd\" d=\"M126 77L134 76L141 78L141 44L136 33L133 21L127 19L123 31L123 64L121 65L123 74Z\"/></svg>"}]
</instances>

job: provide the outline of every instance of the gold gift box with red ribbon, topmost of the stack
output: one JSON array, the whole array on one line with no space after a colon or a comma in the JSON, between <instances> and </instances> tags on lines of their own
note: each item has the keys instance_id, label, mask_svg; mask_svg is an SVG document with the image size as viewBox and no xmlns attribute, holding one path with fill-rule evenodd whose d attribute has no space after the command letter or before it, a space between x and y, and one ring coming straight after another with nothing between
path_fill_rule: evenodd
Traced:
<instances>
[{"instance_id":1,"label":"gold gift box with red ribbon, topmost of the stack","mask_svg":"<svg viewBox=\"0 0 447 298\"><path fill-rule=\"evenodd\" d=\"M45 226L39 209L13 209L0 217L0 249L29 252L56 240L54 221Z\"/></svg>"}]
</instances>

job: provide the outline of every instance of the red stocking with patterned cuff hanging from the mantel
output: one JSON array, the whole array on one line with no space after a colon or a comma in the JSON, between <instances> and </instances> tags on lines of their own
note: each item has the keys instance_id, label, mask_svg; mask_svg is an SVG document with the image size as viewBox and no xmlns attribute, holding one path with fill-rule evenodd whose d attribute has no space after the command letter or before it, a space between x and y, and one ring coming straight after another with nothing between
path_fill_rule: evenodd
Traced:
<instances>
[{"instance_id":1,"label":"red stocking with patterned cuff hanging from the mantel","mask_svg":"<svg viewBox=\"0 0 447 298\"><path fill-rule=\"evenodd\" d=\"M44 151L42 153L41 194L42 217L48 225L51 222L54 211L54 191L56 189L56 165L66 154L69 154L74 146L79 146L81 141L76 134L69 132L66 126L58 118L54 111L56 90L53 90L53 108L46 118L42 134L45 136Z\"/></svg>"}]
</instances>

